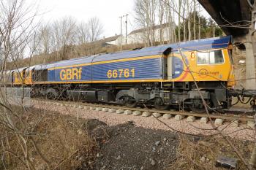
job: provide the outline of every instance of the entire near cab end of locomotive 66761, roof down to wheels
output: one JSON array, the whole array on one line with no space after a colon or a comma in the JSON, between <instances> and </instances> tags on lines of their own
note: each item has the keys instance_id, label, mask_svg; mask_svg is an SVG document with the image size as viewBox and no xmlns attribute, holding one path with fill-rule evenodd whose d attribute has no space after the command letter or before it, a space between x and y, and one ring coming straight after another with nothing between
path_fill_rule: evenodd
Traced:
<instances>
[{"instance_id":1,"label":"entire near cab end of locomotive 66761, roof down to wheels","mask_svg":"<svg viewBox=\"0 0 256 170\"><path fill-rule=\"evenodd\" d=\"M167 55L162 103L177 107L184 104L194 112L205 112L203 96L209 107L230 107L227 89L235 85L230 40L226 36L214 41L206 39L201 46L199 41L173 45Z\"/></svg>"}]
</instances>

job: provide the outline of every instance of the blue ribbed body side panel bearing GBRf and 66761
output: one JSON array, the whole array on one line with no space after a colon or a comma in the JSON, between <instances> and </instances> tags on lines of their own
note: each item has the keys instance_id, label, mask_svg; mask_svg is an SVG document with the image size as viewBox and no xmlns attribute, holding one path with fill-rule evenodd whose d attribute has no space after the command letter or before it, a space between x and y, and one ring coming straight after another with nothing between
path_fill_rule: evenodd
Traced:
<instances>
[{"instance_id":1,"label":"blue ribbed body side panel bearing GBRf and 66761","mask_svg":"<svg viewBox=\"0 0 256 170\"><path fill-rule=\"evenodd\" d=\"M162 80L162 55L84 63L48 69L48 82L127 82Z\"/></svg>"}]
</instances>

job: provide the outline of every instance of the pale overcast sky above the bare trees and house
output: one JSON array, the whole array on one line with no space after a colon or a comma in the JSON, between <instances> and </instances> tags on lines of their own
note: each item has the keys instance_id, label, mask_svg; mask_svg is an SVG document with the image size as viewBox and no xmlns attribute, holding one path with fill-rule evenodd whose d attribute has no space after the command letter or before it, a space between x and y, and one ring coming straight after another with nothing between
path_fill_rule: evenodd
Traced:
<instances>
[{"instance_id":1,"label":"pale overcast sky above the bare trees and house","mask_svg":"<svg viewBox=\"0 0 256 170\"><path fill-rule=\"evenodd\" d=\"M120 16L128 14L128 34L136 29L134 22L135 0L37 0L39 12L45 23L72 16L75 20L87 21L89 18L97 17L103 25L103 36L114 36L120 34ZM34 3L34 0L27 0ZM203 11L201 15L209 17ZM123 18L123 20L125 20ZM124 26L124 25L123 25ZM123 34L125 33L123 27Z\"/></svg>"}]
</instances>

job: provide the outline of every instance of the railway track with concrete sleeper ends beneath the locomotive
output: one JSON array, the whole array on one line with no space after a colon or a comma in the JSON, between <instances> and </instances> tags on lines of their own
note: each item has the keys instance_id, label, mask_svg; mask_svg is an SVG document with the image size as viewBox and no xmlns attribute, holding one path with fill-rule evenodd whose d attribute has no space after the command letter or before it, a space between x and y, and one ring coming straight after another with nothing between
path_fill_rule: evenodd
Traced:
<instances>
[{"instance_id":1,"label":"railway track with concrete sleeper ends beneath the locomotive","mask_svg":"<svg viewBox=\"0 0 256 170\"><path fill-rule=\"evenodd\" d=\"M185 117L207 117L214 120L217 119L222 119L225 121L238 121L239 123L247 123L247 125L253 127L255 124L255 117L252 115L237 115L233 113L226 113L226 114L199 114L199 113L194 113L194 112L184 112L184 111L177 111L177 110L157 110L157 109L148 109L148 108L129 108L129 107L124 107L116 104L97 104L97 103L84 103L84 102L76 102L76 101L53 101L49 99L41 99L41 98L33 98L31 99L32 102L36 101L41 101L42 103L46 104L55 104L58 106L65 106L65 107L76 107L76 108L84 108L84 109L96 109L96 108L108 108L108 109L121 109L121 110L130 110L132 112L138 111L138 112L149 112L151 114L153 113L159 113L161 115L169 114L169 115L180 115L182 116L181 118ZM94 108L93 108L94 107Z\"/></svg>"}]
</instances>

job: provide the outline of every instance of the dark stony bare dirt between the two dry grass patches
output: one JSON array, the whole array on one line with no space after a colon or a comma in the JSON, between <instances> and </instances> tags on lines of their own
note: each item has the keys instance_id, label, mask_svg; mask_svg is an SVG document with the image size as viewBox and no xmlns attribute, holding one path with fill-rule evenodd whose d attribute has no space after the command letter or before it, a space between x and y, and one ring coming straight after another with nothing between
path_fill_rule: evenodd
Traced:
<instances>
[{"instance_id":1,"label":"dark stony bare dirt between the two dry grass patches","mask_svg":"<svg viewBox=\"0 0 256 170\"><path fill-rule=\"evenodd\" d=\"M132 122L109 127L99 123L91 133L107 141L102 142L94 169L165 169L176 156L178 136L170 131L140 128Z\"/></svg>"}]
</instances>

